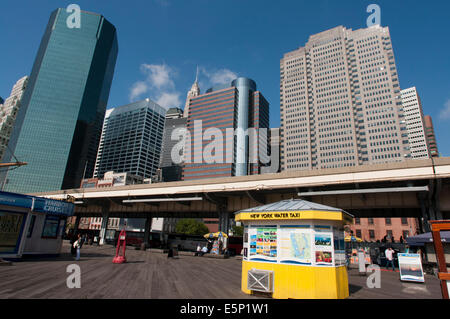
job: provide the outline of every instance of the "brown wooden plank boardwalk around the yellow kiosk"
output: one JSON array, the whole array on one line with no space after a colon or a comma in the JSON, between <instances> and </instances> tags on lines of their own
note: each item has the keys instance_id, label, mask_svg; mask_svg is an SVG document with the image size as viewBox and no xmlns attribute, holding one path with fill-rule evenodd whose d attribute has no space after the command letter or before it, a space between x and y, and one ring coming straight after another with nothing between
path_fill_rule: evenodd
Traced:
<instances>
[{"instance_id":1,"label":"brown wooden plank boardwalk around the yellow kiosk","mask_svg":"<svg viewBox=\"0 0 450 319\"><path fill-rule=\"evenodd\" d=\"M63 247L64 251L69 246ZM63 253L58 258L33 259L0 267L0 298L153 298L153 299L244 299L241 292L241 260L180 256L127 250L126 264L113 264L111 246L84 246L79 262ZM81 288L69 289L70 264L81 268ZM350 298L441 298L439 281L426 277L426 284L402 283L398 273L382 272L382 288L368 289L366 277L349 273Z\"/></svg>"}]
</instances>

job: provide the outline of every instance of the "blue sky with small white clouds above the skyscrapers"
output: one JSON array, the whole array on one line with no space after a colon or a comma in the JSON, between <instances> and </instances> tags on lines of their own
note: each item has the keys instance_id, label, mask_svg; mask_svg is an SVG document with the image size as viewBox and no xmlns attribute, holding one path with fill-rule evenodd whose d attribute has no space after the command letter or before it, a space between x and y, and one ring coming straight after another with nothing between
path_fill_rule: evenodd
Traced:
<instances>
[{"instance_id":1,"label":"blue sky with small white clouds above the skyscrapers","mask_svg":"<svg viewBox=\"0 0 450 319\"><path fill-rule=\"evenodd\" d=\"M388 26L400 85L416 86L433 117L439 151L450 156L450 2L363 0L2 0L0 96L31 71L50 12L78 4L118 31L109 107L150 97L184 106L200 68L204 92L234 76L254 79L279 126L279 60L309 35L338 25L366 26L371 3Z\"/></svg>"}]
</instances>

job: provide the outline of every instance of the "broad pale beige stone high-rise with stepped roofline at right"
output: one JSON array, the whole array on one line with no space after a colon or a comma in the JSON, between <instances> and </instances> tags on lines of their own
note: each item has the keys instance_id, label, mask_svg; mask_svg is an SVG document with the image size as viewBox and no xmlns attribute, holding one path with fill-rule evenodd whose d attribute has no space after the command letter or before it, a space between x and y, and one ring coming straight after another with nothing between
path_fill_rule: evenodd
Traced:
<instances>
[{"instance_id":1,"label":"broad pale beige stone high-rise with stepped roofline at right","mask_svg":"<svg viewBox=\"0 0 450 319\"><path fill-rule=\"evenodd\" d=\"M283 170L410 157L389 29L342 26L280 61Z\"/></svg>"}]
</instances>

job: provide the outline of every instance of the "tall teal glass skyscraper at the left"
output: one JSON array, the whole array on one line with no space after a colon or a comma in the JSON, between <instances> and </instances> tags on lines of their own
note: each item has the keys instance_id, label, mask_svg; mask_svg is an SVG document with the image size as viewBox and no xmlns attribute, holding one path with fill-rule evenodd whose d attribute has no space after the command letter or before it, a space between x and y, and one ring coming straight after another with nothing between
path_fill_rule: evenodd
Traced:
<instances>
[{"instance_id":1,"label":"tall teal glass skyscraper at the left","mask_svg":"<svg viewBox=\"0 0 450 319\"><path fill-rule=\"evenodd\" d=\"M7 191L78 188L92 175L118 52L116 29L96 13L82 11L80 28L70 28L70 19L57 9L47 24L9 143L28 165L9 171Z\"/></svg>"}]
</instances>

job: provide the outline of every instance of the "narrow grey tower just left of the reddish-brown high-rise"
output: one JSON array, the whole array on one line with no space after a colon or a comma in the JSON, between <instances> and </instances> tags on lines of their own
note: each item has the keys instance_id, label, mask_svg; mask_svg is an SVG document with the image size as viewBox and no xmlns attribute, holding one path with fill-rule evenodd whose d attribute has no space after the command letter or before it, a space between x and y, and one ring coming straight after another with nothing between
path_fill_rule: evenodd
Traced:
<instances>
[{"instance_id":1,"label":"narrow grey tower just left of the reddish-brown high-rise","mask_svg":"<svg viewBox=\"0 0 450 319\"><path fill-rule=\"evenodd\" d=\"M166 113L161 161L159 165L162 182L181 181L183 165L182 163L174 163L172 150L176 147L176 144L184 143L185 141L184 139L173 140L172 135L175 130L185 131L186 121L187 118L183 117L183 111L179 108L171 108Z\"/></svg>"}]
</instances>

